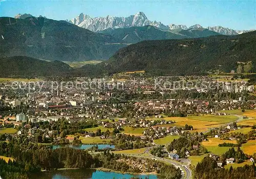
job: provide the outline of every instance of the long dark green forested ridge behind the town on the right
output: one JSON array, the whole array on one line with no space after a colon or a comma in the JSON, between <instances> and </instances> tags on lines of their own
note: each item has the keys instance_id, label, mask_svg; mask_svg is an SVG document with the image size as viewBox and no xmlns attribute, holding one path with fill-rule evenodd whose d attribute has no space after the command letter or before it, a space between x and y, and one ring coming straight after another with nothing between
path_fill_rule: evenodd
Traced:
<instances>
[{"instance_id":1,"label":"long dark green forested ridge behind the town on the right","mask_svg":"<svg viewBox=\"0 0 256 179\"><path fill-rule=\"evenodd\" d=\"M199 75L237 69L255 73L256 31L236 36L141 41L120 49L93 68L97 75L141 70L156 75ZM83 69L90 71L92 67Z\"/></svg>"}]
</instances>

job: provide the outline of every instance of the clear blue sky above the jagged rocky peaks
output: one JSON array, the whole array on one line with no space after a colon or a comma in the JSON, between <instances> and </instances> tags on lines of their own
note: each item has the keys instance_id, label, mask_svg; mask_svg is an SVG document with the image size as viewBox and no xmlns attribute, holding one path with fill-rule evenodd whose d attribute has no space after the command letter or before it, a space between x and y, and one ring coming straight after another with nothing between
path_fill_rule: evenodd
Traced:
<instances>
[{"instance_id":1,"label":"clear blue sky above the jagged rocky peaks","mask_svg":"<svg viewBox=\"0 0 256 179\"><path fill-rule=\"evenodd\" d=\"M236 30L256 29L256 0L247 1L11 1L0 0L0 16L30 13L56 20L71 19L81 12L94 16L129 16L139 11L165 25L223 26Z\"/></svg>"}]
</instances>

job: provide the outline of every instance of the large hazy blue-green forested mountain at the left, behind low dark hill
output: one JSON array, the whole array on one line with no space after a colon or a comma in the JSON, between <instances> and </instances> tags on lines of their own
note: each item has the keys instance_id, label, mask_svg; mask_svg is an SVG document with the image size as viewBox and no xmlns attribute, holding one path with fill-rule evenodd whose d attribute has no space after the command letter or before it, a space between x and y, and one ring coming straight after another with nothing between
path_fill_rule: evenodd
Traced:
<instances>
[{"instance_id":1,"label":"large hazy blue-green forested mountain at the left, behind low dark hill","mask_svg":"<svg viewBox=\"0 0 256 179\"><path fill-rule=\"evenodd\" d=\"M65 20L44 17L0 17L0 56L45 60L108 59L125 47L110 35L79 28Z\"/></svg>"}]
</instances>

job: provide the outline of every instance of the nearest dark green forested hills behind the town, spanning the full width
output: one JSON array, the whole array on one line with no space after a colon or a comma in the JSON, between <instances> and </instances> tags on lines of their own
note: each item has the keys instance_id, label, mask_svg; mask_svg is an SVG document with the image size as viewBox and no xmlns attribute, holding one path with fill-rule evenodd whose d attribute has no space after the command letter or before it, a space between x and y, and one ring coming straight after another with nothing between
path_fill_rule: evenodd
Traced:
<instances>
[{"instance_id":1,"label":"nearest dark green forested hills behind the town, spanning the full width","mask_svg":"<svg viewBox=\"0 0 256 179\"><path fill-rule=\"evenodd\" d=\"M154 76L203 75L231 70L255 73L256 31L236 36L141 41L118 50L109 60L78 69L61 61L49 62L26 56L0 57L0 64L0 77L27 78L99 77L141 70Z\"/></svg>"}]
</instances>

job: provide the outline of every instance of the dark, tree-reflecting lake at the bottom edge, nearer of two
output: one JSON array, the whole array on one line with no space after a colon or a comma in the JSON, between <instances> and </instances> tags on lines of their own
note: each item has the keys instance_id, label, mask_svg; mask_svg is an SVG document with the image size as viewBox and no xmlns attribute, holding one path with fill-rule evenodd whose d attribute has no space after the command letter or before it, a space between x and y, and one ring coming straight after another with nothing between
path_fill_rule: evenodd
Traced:
<instances>
[{"instance_id":1,"label":"dark, tree-reflecting lake at the bottom edge, nearer of two","mask_svg":"<svg viewBox=\"0 0 256 179\"><path fill-rule=\"evenodd\" d=\"M29 178L38 178L38 179L119 179L119 178L143 178L145 179L157 179L160 176L155 174L149 175L142 175L142 174L122 174L122 173L115 173L115 172L105 172L105 171L98 171L95 169L70 169L70 170L57 170L57 171L44 171L40 173L34 173Z\"/></svg>"}]
</instances>

